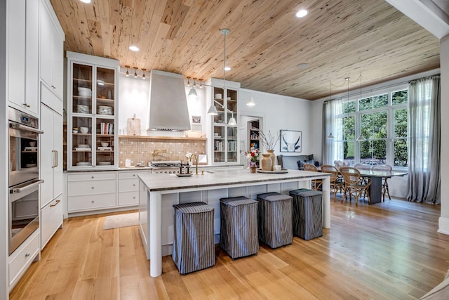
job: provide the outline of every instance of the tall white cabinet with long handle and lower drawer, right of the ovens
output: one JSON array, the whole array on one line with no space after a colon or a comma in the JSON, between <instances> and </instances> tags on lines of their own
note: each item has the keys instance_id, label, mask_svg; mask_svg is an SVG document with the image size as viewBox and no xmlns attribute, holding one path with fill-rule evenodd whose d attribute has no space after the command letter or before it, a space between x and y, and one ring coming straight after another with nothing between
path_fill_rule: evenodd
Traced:
<instances>
[{"instance_id":1,"label":"tall white cabinet with long handle and lower drawer, right of the ovens","mask_svg":"<svg viewBox=\"0 0 449 300\"><path fill-rule=\"evenodd\" d=\"M44 88L46 89L46 88ZM53 93L51 93L53 94ZM41 105L41 249L62 225L62 115Z\"/></svg>"}]
</instances>

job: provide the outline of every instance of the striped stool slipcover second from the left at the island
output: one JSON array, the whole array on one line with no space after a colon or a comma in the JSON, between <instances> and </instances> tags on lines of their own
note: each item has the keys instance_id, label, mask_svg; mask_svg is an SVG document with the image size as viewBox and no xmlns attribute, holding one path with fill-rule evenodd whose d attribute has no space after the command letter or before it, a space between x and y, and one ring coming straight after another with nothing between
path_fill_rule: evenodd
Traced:
<instances>
[{"instance_id":1,"label":"striped stool slipcover second from the left at the island","mask_svg":"<svg viewBox=\"0 0 449 300\"><path fill-rule=\"evenodd\" d=\"M220 199L220 247L236 259L257 254L257 204L247 197Z\"/></svg>"}]
</instances>

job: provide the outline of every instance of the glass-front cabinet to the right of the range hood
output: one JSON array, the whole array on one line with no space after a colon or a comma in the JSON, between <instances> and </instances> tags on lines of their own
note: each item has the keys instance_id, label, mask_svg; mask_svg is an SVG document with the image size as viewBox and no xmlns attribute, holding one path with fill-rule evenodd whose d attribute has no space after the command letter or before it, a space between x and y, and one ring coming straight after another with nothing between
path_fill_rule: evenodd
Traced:
<instances>
[{"instance_id":1,"label":"glass-front cabinet to the right of the range hood","mask_svg":"<svg viewBox=\"0 0 449 300\"><path fill-rule=\"evenodd\" d=\"M213 100L210 104L217 110L212 121L213 145L210 152L213 163L238 163L238 88L227 88L225 85L213 86L211 90Z\"/></svg>"}]
</instances>

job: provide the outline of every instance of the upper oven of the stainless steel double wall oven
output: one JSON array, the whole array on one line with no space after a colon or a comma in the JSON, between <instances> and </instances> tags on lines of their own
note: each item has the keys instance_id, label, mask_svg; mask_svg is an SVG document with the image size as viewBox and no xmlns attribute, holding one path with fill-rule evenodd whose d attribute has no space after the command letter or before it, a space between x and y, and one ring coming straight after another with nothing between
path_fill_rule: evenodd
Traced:
<instances>
[{"instance_id":1,"label":"upper oven of the stainless steel double wall oven","mask_svg":"<svg viewBox=\"0 0 449 300\"><path fill-rule=\"evenodd\" d=\"M38 119L9 107L9 186L39 177Z\"/></svg>"}]
</instances>

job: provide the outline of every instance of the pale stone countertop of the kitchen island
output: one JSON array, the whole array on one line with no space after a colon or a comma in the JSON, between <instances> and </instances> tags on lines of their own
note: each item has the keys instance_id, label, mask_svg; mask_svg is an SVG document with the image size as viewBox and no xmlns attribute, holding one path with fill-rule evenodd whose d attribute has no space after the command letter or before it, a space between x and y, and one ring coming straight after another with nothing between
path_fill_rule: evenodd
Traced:
<instances>
[{"instance_id":1,"label":"pale stone countertop of the kitchen island","mask_svg":"<svg viewBox=\"0 0 449 300\"><path fill-rule=\"evenodd\" d=\"M210 186L265 183L270 181L295 181L300 178L324 178L330 174L321 172L288 170L288 173L250 173L248 169L234 169L193 174L178 177L175 174L140 174L139 178L149 191L179 190L187 188L206 188Z\"/></svg>"}]
</instances>

